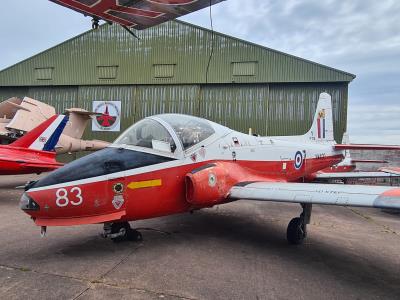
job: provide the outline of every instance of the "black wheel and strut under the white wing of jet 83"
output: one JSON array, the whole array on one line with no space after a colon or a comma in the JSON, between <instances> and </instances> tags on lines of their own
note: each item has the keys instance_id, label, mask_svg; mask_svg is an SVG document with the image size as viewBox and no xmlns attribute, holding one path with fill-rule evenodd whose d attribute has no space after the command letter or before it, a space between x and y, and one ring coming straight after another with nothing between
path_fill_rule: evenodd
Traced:
<instances>
[{"instance_id":1,"label":"black wheel and strut under the white wing of jet 83","mask_svg":"<svg viewBox=\"0 0 400 300\"><path fill-rule=\"evenodd\" d=\"M303 212L300 217L293 218L288 225L286 238L290 244L299 245L307 236L307 224L310 224L312 204L301 204Z\"/></svg>"}]
</instances>

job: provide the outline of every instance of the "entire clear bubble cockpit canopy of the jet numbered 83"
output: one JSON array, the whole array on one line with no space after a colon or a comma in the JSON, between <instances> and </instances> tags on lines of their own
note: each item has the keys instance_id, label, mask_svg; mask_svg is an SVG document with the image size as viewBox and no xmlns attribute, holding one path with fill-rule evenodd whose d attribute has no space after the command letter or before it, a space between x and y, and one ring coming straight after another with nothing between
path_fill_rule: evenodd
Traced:
<instances>
[{"instance_id":1,"label":"entire clear bubble cockpit canopy of the jet numbered 83","mask_svg":"<svg viewBox=\"0 0 400 300\"><path fill-rule=\"evenodd\" d=\"M135 123L115 141L115 144L174 153L177 149L176 143L179 142L183 150L186 150L214 133L214 128L207 120L187 115L164 114ZM173 136L179 141L174 140Z\"/></svg>"}]
</instances>

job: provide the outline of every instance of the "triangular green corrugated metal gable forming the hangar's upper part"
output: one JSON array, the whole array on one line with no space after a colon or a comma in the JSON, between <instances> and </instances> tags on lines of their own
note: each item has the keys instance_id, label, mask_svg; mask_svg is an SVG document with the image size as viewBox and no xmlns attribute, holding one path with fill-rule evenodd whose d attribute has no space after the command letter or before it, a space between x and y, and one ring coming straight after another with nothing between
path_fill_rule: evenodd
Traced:
<instances>
[{"instance_id":1,"label":"triangular green corrugated metal gable forming the hangar's upper part","mask_svg":"<svg viewBox=\"0 0 400 300\"><path fill-rule=\"evenodd\" d=\"M212 44L213 56L206 76ZM235 75L234 66L238 62L252 62L254 75ZM155 65L174 65L173 76L155 76ZM99 75L102 74L99 68L107 67L117 70L115 79ZM52 71L38 77L38 70ZM208 83L350 82L354 78L347 72L172 21L142 31L140 40L119 26L102 25L1 71L0 86L193 84L206 80Z\"/></svg>"}]
</instances>

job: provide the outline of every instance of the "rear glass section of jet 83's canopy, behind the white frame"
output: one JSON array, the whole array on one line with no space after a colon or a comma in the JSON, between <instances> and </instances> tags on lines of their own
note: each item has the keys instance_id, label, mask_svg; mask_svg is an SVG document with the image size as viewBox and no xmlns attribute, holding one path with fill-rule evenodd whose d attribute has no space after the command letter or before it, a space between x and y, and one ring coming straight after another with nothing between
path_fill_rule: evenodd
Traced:
<instances>
[{"instance_id":1,"label":"rear glass section of jet 83's canopy, behind the white frame","mask_svg":"<svg viewBox=\"0 0 400 300\"><path fill-rule=\"evenodd\" d=\"M182 142L183 149L186 150L215 133L207 120L177 114L158 115L176 132L176 135Z\"/></svg>"}]
</instances>

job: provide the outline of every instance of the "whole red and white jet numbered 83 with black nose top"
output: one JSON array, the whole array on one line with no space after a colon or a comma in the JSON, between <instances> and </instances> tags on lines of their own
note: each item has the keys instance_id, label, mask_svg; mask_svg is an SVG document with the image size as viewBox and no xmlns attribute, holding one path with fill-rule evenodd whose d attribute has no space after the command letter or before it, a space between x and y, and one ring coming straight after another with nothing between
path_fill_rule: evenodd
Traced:
<instances>
[{"instance_id":1,"label":"whole red and white jet numbered 83 with black nose top","mask_svg":"<svg viewBox=\"0 0 400 300\"><path fill-rule=\"evenodd\" d=\"M110 147L31 182L20 205L42 233L46 226L104 223L104 235L121 240L141 238L129 221L239 199L291 202L303 208L287 229L289 242L299 244L313 204L400 208L400 188L299 183L339 163L339 147L327 93L302 136L257 137L193 116L156 115Z\"/></svg>"}]
</instances>

